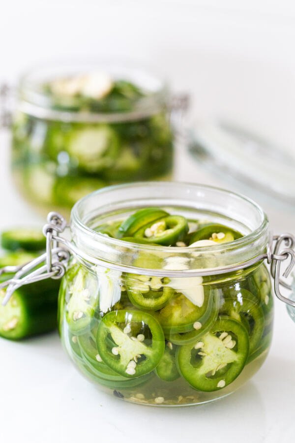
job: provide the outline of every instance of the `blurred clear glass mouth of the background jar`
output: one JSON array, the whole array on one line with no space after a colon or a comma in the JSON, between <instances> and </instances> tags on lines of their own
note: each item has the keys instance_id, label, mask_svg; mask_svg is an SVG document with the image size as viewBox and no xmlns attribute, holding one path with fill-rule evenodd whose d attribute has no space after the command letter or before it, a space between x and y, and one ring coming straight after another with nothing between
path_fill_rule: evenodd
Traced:
<instances>
[{"instance_id":1,"label":"blurred clear glass mouth of the background jar","mask_svg":"<svg viewBox=\"0 0 295 443\"><path fill-rule=\"evenodd\" d=\"M46 82L57 78L93 72L105 72L112 80L127 80L136 84L145 95L132 104L128 111L92 112L87 110L54 109L53 102L43 88ZM114 63L107 58L79 61L77 63L57 63L30 69L25 73L18 87L19 109L33 117L62 122L116 123L140 120L159 112L167 104L169 89L167 83L139 68L130 61Z\"/></svg>"}]
</instances>

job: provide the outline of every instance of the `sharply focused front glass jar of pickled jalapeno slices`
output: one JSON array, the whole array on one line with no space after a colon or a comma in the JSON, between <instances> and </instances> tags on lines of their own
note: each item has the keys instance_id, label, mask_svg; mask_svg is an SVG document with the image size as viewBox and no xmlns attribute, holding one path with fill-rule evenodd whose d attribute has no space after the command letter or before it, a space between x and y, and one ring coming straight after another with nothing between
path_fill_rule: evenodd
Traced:
<instances>
[{"instance_id":1,"label":"sharply focused front glass jar of pickled jalapeno slices","mask_svg":"<svg viewBox=\"0 0 295 443\"><path fill-rule=\"evenodd\" d=\"M190 230L210 221L242 237L196 247L110 237L145 207L185 217ZM79 201L71 232L60 334L101 389L145 405L194 405L232 393L261 367L272 336L268 271L262 261L231 271L266 252L268 221L254 202L199 185L117 186Z\"/></svg>"}]
</instances>

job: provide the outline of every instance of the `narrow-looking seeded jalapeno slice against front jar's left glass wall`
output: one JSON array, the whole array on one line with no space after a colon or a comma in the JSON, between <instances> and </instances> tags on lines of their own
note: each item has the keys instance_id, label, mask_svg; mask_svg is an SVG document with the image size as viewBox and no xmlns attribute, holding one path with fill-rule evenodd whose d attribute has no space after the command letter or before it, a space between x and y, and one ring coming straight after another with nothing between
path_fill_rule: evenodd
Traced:
<instances>
[{"instance_id":1,"label":"narrow-looking seeded jalapeno slice against front jar's left glass wall","mask_svg":"<svg viewBox=\"0 0 295 443\"><path fill-rule=\"evenodd\" d=\"M66 300L66 320L70 331L83 334L90 326L98 300L97 282L87 270L74 268Z\"/></svg>"}]
</instances>

